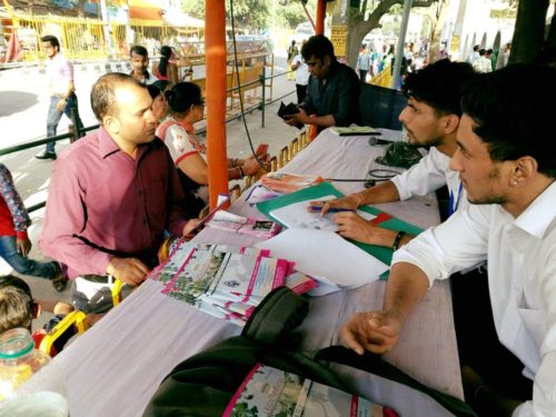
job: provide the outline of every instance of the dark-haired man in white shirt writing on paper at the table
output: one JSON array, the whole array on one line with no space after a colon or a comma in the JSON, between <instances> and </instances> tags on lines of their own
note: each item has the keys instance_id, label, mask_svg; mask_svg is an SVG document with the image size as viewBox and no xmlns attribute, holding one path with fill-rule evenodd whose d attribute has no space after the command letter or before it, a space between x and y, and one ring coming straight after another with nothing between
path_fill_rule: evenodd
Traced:
<instances>
[{"instance_id":1,"label":"dark-haired man in white shirt writing on paper at the table","mask_svg":"<svg viewBox=\"0 0 556 417\"><path fill-rule=\"evenodd\" d=\"M458 173L449 169L449 160L457 149L456 131L461 107L460 90L475 76L470 64L441 60L419 71L411 72L404 81L403 91L408 98L399 120L407 131L409 143L425 147L429 152L406 172L384 181L376 187L345 198L312 201L322 206L321 214L330 208L356 209L359 206L407 200L414 196L426 196L447 185L450 195L448 212L466 203ZM370 245L399 247L411 236L376 227L353 211L334 216L340 236Z\"/></svg>"}]
</instances>

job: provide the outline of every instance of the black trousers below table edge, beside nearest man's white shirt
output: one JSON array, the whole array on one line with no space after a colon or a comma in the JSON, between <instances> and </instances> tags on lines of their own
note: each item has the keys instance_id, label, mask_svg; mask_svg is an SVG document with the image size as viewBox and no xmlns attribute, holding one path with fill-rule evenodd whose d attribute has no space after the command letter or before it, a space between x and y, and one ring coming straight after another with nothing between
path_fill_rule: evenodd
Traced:
<instances>
[{"instance_id":1,"label":"black trousers below table edge, beside nearest man's white shirt","mask_svg":"<svg viewBox=\"0 0 556 417\"><path fill-rule=\"evenodd\" d=\"M451 296L460 365L505 397L532 399L533 381L522 375L524 365L498 340L486 270L451 276Z\"/></svg>"}]
</instances>

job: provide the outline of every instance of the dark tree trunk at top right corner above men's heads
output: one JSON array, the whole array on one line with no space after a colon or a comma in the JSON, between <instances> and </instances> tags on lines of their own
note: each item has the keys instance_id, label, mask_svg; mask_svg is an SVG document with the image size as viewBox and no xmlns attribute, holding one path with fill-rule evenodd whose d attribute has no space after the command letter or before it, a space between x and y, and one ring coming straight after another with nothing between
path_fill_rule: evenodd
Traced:
<instances>
[{"instance_id":1,"label":"dark tree trunk at top right corner above men's heads","mask_svg":"<svg viewBox=\"0 0 556 417\"><path fill-rule=\"evenodd\" d=\"M534 62L544 47L549 0L520 0L508 63ZM554 19L553 19L554 20Z\"/></svg>"}]
</instances>

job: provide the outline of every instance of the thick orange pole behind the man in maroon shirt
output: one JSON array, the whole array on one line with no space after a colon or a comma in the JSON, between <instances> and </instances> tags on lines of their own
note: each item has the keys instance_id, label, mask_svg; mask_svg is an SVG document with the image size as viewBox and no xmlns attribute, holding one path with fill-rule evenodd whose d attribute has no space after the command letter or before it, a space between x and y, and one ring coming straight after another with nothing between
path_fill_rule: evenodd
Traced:
<instances>
[{"instance_id":1,"label":"thick orange pole behind the man in maroon shirt","mask_svg":"<svg viewBox=\"0 0 556 417\"><path fill-rule=\"evenodd\" d=\"M205 63L207 72L207 165L209 203L228 195L226 155L226 9L224 0L205 1Z\"/></svg>"}]
</instances>

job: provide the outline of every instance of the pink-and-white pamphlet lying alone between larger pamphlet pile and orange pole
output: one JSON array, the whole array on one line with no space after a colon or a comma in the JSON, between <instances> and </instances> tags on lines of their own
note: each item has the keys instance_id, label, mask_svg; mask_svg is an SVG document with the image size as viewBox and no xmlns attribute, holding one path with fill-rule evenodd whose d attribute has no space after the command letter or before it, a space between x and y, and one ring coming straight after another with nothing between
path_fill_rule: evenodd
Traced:
<instances>
[{"instance_id":1,"label":"pink-and-white pamphlet lying alone between larger pamphlet pile and orange pole","mask_svg":"<svg viewBox=\"0 0 556 417\"><path fill-rule=\"evenodd\" d=\"M255 220L222 210L216 212L206 226L212 229L235 231L259 238L270 238L281 229L280 225L270 220Z\"/></svg>"}]
</instances>

